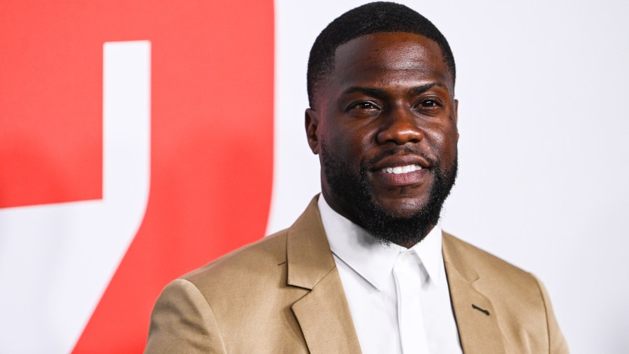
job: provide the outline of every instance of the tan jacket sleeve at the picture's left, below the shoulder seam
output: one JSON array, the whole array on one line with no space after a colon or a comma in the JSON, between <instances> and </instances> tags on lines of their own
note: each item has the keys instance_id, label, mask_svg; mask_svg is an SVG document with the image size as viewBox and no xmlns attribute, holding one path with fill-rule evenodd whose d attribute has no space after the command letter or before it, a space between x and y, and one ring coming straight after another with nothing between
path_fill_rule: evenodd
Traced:
<instances>
[{"instance_id":1,"label":"tan jacket sleeve at the picture's left, below the shoulder seam","mask_svg":"<svg viewBox=\"0 0 629 354\"><path fill-rule=\"evenodd\" d=\"M161 292L144 353L226 353L210 304L193 283L176 279Z\"/></svg>"}]
</instances>

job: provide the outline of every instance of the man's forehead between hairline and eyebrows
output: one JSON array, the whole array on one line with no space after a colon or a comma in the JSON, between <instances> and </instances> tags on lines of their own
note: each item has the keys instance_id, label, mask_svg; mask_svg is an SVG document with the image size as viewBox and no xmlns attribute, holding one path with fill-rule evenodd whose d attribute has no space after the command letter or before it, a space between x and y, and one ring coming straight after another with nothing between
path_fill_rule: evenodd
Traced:
<instances>
[{"instance_id":1,"label":"man's forehead between hairline and eyebrows","mask_svg":"<svg viewBox=\"0 0 629 354\"><path fill-rule=\"evenodd\" d=\"M368 34L339 45L328 78L343 85L360 81L433 80L454 92L451 73L435 41L419 34ZM401 83L401 81L400 81Z\"/></svg>"}]
</instances>

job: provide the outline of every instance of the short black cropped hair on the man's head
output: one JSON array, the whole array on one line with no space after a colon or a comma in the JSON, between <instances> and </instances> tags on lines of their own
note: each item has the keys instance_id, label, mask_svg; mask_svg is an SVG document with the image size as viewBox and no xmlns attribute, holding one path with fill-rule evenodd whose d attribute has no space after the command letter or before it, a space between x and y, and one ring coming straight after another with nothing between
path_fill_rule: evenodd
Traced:
<instances>
[{"instance_id":1,"label":"short black cropped hair on the man's head","mask_svg":"<svg viewBox=\"0 0 629 354\"><path fill-rule=\"evenodd\" d=\"M456 78L454 55L448 41L433 22L407 6L378 1L353 8L340 15L317 36L308 59L307 85L308 101L311 107L314 104L317 85L333 69L336 48L354 38L382 32L419 34L435 41L441 48L444 62L452 74L454 83Z\"/></svg>"}]
</instances>

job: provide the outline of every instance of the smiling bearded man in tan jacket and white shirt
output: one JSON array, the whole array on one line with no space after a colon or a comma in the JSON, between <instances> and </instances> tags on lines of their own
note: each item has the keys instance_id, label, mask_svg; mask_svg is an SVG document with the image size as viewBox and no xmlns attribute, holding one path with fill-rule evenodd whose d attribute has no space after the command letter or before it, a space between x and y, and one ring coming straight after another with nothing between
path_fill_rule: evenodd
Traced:
<instances>
[{"instance_id":1,"label":"smiling bearded man in tan jacket and white shirt","mask_svg":"<svg viewBox=\"0 0 629 354\"><path fill-rule=\"evenodd\" d=\"M319 34L305 128L321 195L289 229L173 281L148 353L567 353L530 274L438 227L456 70L434 25L370 3Z\"/></svg>"}]
</instances>

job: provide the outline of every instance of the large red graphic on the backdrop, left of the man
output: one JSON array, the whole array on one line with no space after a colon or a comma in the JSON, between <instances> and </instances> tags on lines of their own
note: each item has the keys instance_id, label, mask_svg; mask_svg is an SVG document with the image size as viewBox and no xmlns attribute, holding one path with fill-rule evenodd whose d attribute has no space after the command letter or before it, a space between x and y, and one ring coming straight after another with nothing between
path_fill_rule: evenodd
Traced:
<instances>
[{"instance_id":1,"label":"large red graphic on the backdrop, left of the man","mask_svg":"<svg viewBox=\"0 0 629 354\"><path fill-rule=\"evenodd\" d=\"M0 208L101 198L103 43L151 41L147 211L74 349L139 353L168 281L265 232L273 2L3 1L0 34Z\"/></svg>"}]
</instances>

